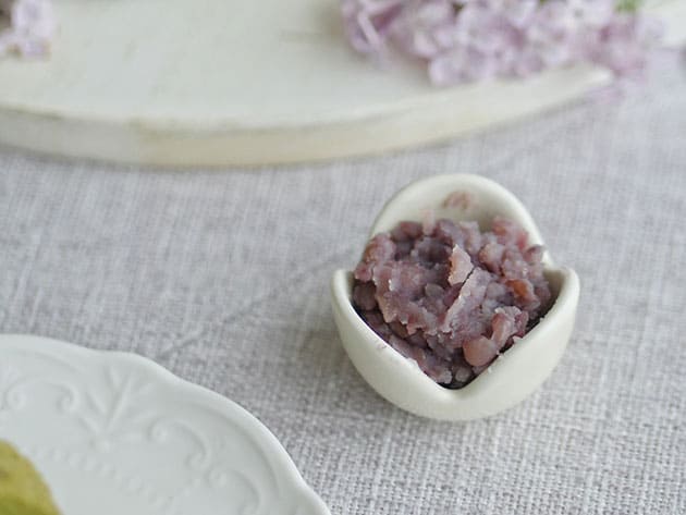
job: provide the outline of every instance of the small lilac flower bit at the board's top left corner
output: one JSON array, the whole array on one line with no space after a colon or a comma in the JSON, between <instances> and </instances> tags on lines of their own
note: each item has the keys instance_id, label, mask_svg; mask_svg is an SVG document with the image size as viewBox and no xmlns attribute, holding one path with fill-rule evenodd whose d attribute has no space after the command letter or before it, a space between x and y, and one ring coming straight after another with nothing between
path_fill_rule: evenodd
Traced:
<instances>
[{"instance_id":1,"label":"small lilac flower bit at the board's top left corner","mask_svg":"<svg viewBox=\"0 0 686 515\"><path fill-rule=\"evenodd\" d=\"M0 0L0 57L45 56L54 30L51 0Z\"/></svg>"}]
</instances>

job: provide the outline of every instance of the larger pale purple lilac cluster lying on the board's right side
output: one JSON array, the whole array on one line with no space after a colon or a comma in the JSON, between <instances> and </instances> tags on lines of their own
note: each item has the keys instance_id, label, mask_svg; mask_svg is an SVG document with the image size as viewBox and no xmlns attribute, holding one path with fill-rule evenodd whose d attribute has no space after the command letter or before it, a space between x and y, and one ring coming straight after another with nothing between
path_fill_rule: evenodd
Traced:
<instances>
[{"instance_id":1,"label":"larger pale purple lilac cluster lying on the board's right side","mask_svg":"<svg viewBox=\"0 0 686 515\"><path fill-rule=\"evenodd\" d=\"M437 85L590 62L640 76L660 24L636 0L342 0L352 46L427 63Z\"/></svg>"}]
</instances>

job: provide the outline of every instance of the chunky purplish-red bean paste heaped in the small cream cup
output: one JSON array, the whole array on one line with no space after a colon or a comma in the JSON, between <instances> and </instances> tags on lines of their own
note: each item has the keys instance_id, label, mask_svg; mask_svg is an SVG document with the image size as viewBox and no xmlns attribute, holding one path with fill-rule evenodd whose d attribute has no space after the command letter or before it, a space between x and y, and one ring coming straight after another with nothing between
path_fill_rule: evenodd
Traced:
<instances>
[{"instance_id":1,"label":"chunky purplish-red bean paste heaped in the small cream cup","mask_svg":"<svg viewBox=\"0 0 686 515\"><path fill-rule=\"evenodd\" d=\"M401 222L367 244L353 304L367 324L432 380L451 389L474 378L548 307L543 248L495 217L476 222Z\"/></svg>"}]
</instances>

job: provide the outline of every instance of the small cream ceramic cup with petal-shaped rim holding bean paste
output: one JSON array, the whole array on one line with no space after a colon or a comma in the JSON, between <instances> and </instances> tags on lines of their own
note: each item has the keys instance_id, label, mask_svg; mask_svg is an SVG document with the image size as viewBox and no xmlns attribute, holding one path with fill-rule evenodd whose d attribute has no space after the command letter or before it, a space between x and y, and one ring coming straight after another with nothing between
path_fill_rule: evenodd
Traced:
<instances>
[{"instance_id":1,"label":"small cream ceramic cup with petal-shaped rim holding bean paste","mask_svg":"<svg viewBox=\"0 0 686 515\"><path fill-rule=\"evenodd\" d=\"M468 209L446 209L443 201L455 191L474 199ZM421 220L427 209L439 218L477 220L489 229L495 214L516 220L531 243L543 244L540 232L522 203L501 185L478 175L437 175L399 192L381 210L371 235L393 229L402 220ZM338 270L331 281L333 316L351 360L367 382L396 406L416 415L442 420L469 420L494 415L523 401L558 365L567 345L579 297L577 274L558 267L543 255L553 304L540 322L495 359L467 387L449 390L429 379L417 366L381 340L357 315L351 303L353 278Z\"/></svg>"}]
</instances>

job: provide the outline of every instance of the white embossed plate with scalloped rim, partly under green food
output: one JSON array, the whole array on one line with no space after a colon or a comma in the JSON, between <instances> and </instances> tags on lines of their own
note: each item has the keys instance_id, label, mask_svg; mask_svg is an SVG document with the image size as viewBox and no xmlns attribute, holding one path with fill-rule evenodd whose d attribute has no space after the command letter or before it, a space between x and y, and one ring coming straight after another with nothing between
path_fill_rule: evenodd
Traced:
<instances>
[{"instance_id":1,"label":"white embossed plate with scalloped rim, partly under green food","mask_svg":"<svg viewBox=\"0 0 686 515\"><path fill-rule=\"evenodd\" d=\"M328 515L275 437L152 361L0 335L0 439L64 515Z\"/></svg>"}]
</instances>

